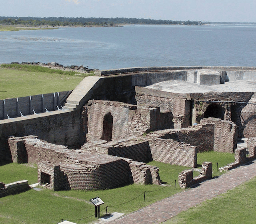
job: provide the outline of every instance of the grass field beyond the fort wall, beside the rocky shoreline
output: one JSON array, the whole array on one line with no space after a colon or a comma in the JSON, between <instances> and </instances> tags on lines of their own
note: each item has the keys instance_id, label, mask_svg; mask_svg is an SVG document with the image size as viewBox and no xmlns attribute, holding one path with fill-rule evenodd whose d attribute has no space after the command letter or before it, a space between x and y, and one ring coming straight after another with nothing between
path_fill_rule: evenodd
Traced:
<instances>
[{"instance_id":1,"label":"grass field beyond the fort wall, beside the rocky shoreline","mask_svg":"<svg viewBox=\"0 0 256 224\"><path fill-rule=\"evenodd\" d=\"M0 99L25 97L74 89L84 78L82 74L52 73L59 70L35 65L0 67Z\"/></svg>"}]
</instances>

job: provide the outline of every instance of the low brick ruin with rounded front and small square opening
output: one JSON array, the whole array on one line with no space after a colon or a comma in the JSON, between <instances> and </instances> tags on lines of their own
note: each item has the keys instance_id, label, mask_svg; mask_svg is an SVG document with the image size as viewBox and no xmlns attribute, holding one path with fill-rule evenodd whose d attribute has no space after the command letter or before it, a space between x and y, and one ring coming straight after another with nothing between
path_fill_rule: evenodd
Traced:
<instances>
[{"instance_id":1,"label":"low brick ruin with rounded front and small square opening","mask_svg":"<svg viewBox=\"0 0 256 224\"><path fill-rule=\"evenodd\" d=\"M20 151L19 146L29 151L34 149L36 153L27 153L28 161L38 163L38 183L52 190L101 190L130 183L161 182L159 169L143 162L86 150L70 150L36 138L10 137L8 141L14 155ZM15 144L19 141L22 144ZM148 143L142 142L143 145Z\"/></svg>"}]
</instances>

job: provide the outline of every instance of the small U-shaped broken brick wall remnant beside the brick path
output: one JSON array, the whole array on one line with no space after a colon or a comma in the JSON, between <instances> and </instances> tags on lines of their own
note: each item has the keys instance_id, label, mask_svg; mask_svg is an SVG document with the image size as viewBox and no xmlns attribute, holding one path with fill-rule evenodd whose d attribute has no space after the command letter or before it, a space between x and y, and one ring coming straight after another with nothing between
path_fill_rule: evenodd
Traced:
<instances>
[{"instance_id":1,"label":"small U-shaped broken brick wall remnant beside the brick path","mask_svg":"<svg viewBox=\"0 0 256 224\"><path fill-rule=\"evenodd\" d=\"M204 180L212 178L212 163L204 162L199 176L193 179L193 170L184 170L178 176L180 188L186 189Z\"/></svg>"}]
</instances>

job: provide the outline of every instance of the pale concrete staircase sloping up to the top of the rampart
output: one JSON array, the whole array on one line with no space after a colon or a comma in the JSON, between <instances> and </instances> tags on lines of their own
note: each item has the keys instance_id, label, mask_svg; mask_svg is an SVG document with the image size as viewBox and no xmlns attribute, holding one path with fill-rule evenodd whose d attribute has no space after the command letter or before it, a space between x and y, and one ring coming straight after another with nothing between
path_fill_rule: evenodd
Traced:
<instances>
[{"instance_id":1,"label":"pale concrete staircase sloping up to the top of the rampart","mask_svg":"<svg viewBox=\"0 0 256 224\"><path fill-rule=\"evenodd\" d=\"M99 80L103 79L99 76L85 77L68 96L64 109L74 111L80 109L86 101L91 99L92 90L99 85Z\"/></svg>"}]
</instances>

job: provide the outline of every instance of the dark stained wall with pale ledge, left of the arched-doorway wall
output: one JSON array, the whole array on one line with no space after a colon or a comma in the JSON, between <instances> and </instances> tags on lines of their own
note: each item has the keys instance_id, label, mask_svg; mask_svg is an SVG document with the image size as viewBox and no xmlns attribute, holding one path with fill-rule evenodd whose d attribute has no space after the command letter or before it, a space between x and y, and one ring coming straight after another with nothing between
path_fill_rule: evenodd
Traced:
<instances>
[{"instance_id":1,"label":"dark stained wall with pale ledge, left of the arched-doorway wall","mask_svg":"<svg viewBox=\"0 0 256 224\"><path fill-rule=\"evenodd\" d=\"M18 118L17 118L18 119ZM11 161L7 142L9 136L36 135L45 141L74 145L80 143L80 111L44 113L19 120L0 122L0 160Z\"/></svg>"}]
</instances>

